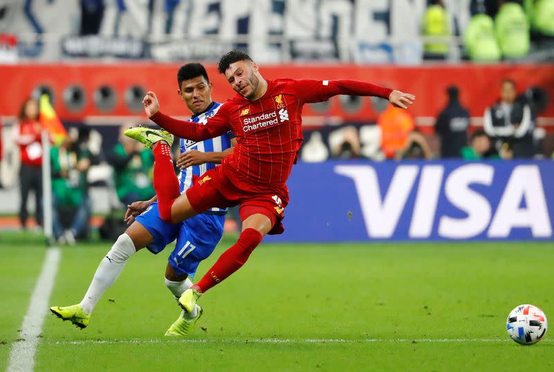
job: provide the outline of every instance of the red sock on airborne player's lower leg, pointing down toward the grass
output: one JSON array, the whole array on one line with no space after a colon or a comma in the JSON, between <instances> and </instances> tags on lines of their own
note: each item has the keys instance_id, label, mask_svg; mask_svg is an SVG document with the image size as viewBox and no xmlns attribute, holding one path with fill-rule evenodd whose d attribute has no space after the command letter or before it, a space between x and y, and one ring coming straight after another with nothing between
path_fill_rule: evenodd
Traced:
<instances>
[{"instance_id":1,"label":"red sock on airborne player's lower leg, pointing down toward the grass","mask_svg":"<svg viewBox=\"0 0 554 372\"><path fill-rule=\"evenodd\" d=\"M217 283L228 278L247 262L250 254L258 247L262 238L262 234L255 229L242 231L235 245L224 251L220 258L217 258L211 269L208 270L194 287L204 293L214 285L217 285Z\"/></svg>"}]
</instances>

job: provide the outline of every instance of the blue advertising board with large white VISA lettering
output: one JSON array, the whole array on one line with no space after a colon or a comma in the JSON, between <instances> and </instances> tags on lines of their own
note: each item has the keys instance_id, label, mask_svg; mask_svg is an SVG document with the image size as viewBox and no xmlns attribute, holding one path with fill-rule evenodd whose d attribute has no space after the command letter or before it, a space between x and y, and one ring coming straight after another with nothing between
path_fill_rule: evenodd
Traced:
<instances>
[{"instance_id":1,"label":"blue advertising board with large white VISA lettering","mask_svg":"<svg viewBox=\"0 0 554 372\"><path fill-rule=\"evenodd\" d=\"M298 163L265 241L554 240L554 161Z\"/></svg>"}]
</instances>

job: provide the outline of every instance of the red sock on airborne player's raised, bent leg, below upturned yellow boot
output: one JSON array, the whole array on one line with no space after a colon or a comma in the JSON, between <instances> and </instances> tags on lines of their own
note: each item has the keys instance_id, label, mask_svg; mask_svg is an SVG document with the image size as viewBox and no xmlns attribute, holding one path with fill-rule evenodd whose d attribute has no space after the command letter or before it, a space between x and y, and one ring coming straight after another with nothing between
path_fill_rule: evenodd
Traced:
<instances>
[{"instance_id":1,"label":"red sock on airborne player's raised, bent leg, below upturned yellow boot","mask_svg":"<svg viewBox=\"0 0 554 372\"><path fill-rule=\"evenodd\" d=\"M152 146L154 152L154 190L158 195L158 210L162 220L171 222L171 206L179 195L179 179L173 169L171 148L165 142Z\"/></svg>"}]
</instances>

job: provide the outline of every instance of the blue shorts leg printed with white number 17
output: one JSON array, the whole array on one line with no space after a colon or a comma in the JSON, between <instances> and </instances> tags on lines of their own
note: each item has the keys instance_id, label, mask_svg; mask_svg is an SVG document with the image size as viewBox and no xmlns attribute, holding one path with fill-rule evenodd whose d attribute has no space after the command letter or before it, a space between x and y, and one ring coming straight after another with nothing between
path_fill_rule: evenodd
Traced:
<instances>
[{"instance_id":1,"label":"blue shorts leg printed with white number 17","mask_svg":"<svg viewBox=\"0 0 554 372\"><path fill-rule=\"evenodd\" d=\"M208 258L220 242L224 222L221 215L199 214L183 223L175 249L168 258L176 274L194 277L199 263Z\"/></svg>"}]
</instances>

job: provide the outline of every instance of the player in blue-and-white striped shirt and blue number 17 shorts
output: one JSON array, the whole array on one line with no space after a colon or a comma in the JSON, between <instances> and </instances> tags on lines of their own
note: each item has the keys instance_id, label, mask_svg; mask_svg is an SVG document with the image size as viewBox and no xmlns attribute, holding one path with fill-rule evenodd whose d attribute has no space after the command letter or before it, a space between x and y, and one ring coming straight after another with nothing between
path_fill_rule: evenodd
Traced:
<instances>
[{"instance_id":1,"label":"player in blue-and-white striped shirt and blue number 17 shorts","mask_svg":"<svg viewBox=\"0 0 554 372\"><path fill-rule=\"evenodd\" d=\"M211 98L212 85L202 64L185 64L177 73L177 82L178 94L193 114L189 123L205 125L208 118L217 114L222 107ZM226 132L203 141L181 139L181 155L177 161L177 166L181 168L179 193L185 193L204 172L215 168L227 154L233 152L232 147L236 143L234 137L232 132ZM164 148L164 151L170 156L169 147ZM200 261L210 256L220 241L225 215L225 208L213 207L194 218L172 224L160 217L157 196L145 202L134 202L128 206L125 215L126 222L134 222L119 236L100 262L82 301L71 306L53 306L51 311L57 317L85 328L100 296L116 281L129 257L144 247L158 254L173 240L177 240L177 243L168 258L165 281L175 299L179 299L193 285L190 278L195 275ZM166 336L187 335L201 316L202 308L199 306L191 312L182 312Z\"/></svg>"}]
</instances>

